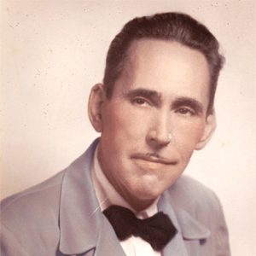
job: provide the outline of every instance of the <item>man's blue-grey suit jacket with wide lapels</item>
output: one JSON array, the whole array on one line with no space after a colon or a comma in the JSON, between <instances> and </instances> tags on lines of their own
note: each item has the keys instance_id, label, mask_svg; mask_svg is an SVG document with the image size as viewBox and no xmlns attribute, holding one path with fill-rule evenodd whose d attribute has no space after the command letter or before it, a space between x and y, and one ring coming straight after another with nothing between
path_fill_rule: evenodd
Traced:
<instances>
[{"instance_id":1,"label":"man's blue-grey suit jacket with wide lapels","mask_svg":"<svg viewBox=\"0 0 256 256\"><path fill-rule=\"evenodd\" d=\"M96 143L55 177L2 201L2 256L125 255L91 181ZM201 183L180 177L161 195L158 209L177 228L162 255L230 255L222 208Z\"/></svg>"}]
</instances>

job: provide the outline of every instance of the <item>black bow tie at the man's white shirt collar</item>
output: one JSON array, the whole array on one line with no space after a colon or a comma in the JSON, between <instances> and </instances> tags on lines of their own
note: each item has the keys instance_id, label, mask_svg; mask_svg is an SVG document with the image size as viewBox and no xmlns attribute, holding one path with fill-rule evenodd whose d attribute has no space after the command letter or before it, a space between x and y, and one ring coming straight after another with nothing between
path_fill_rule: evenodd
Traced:
<instances>
[{"instance_id":1,"label":"black bow tie at the man's white shirt collar","mask_svg":"<svg viewBox=\"0 0 256 256\"><path fill-rule=\"evenodd\" d=\"M103 213L112 224L120 241L131 235L140 236L156 251L162 250L177 232L171 219L163 212L158 212L150 218L140 219L125 207L112 206Z\"/></svg>"}]
</instances>

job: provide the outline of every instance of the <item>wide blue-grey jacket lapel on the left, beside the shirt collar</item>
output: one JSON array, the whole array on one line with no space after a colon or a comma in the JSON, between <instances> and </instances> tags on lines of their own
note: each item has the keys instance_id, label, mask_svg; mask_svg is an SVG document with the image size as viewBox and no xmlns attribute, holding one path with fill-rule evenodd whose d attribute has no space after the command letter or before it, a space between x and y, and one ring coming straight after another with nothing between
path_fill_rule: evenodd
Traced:
<instances>
[{"instance_id":1,"label":"wide blue-grey jacket lapel on the left, beside the shirt collar","mask_svg":"<svg viewBox=\"0 0 256 256\"><path fill-rule=\"evenodd\" d=\"M72 255L94 250L102 212L91 183L90 166L97 141L67 167L60 202L60 251Z\"/></svg>"}]
</instances>

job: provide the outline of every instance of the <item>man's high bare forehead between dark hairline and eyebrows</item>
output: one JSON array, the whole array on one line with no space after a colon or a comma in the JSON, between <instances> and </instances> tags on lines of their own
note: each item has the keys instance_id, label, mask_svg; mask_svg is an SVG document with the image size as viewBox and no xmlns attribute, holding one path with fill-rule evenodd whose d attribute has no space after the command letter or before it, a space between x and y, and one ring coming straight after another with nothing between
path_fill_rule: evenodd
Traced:
<instances>
[{"instance_id":1,"label":"man's high bare forehead between dark hairline and eyebrows","mask_svg":"<svg viewBox=\"0 0 256 256\"><path fill-rule=\"evenodd\" d=\"M208 94L209 79L207 60L199 50L145 38L131 44L115 90L143 87L164 95L201 97Z\"/></svg>"}]
</instances>

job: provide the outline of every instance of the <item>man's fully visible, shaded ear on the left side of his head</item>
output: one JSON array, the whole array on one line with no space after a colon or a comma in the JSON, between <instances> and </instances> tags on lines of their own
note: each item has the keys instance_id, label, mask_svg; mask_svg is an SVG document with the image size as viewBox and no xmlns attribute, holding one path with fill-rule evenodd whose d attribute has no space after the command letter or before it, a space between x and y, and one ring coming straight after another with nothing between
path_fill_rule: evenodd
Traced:
<instances>
[{"instance_id":1,"label":"man's fully visible, shaded ear on the left side of his head","mask_svg":"<svg viewBox=\"0 0 256 256\"><path fill-rule=\"evenodd\" d=\"M102 103L106 100L103 84L96 84L90 90L88 115L91 125L98 132L102 131Z\"/></svg>"}]
</instances>

